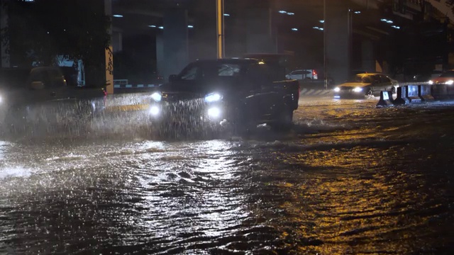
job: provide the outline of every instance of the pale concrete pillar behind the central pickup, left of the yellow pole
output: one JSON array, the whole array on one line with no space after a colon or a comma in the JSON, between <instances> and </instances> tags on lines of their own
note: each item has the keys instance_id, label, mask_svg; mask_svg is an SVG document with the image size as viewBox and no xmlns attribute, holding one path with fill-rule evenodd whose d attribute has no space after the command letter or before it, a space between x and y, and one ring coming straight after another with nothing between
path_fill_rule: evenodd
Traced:
<instances>
[{"instance_id":1,"label":"pale concrete pillar behind the central pickup, left of the yellow pole","mask_svg":"<svg viewBox=\"0 0 454 255\"><path fill-rule=\"evenodd\" d=\"M178 74L189 62L188 15L183 8L170 8L164 13L162 31L164 61L158 70L165 79Z\"/></svg>"}]
</instances>

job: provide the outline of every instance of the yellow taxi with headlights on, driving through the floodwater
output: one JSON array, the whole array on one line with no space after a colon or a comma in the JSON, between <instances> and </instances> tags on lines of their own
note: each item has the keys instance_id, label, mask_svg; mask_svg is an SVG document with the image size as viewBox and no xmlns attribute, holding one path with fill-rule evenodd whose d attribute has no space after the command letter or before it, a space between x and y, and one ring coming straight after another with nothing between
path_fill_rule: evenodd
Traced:
<instances>
[{"instance_id":1,"label":"yellow taxi with headlights on, driving through the floodwater","mask_svg":"<svg viewBox=\"0 0 454 255\"><path fill-rule=\"evenodd\" d=\"M395 93L399 83L387 75L378 73L356 74L353 79L334 89L335 98L364 98L365 96L380 96L380 91Z\"/></svg>"}]
</instances>

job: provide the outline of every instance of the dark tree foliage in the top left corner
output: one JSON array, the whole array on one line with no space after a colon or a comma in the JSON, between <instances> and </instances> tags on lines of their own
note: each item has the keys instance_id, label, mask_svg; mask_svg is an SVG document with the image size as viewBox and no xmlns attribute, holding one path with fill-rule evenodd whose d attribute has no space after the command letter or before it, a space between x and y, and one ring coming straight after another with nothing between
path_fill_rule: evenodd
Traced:
<instances>
[{"instance_id":1,"label":"dark tree foliage in the top left corner","mask_svg":"<svg viewBox=\"0 0 454 255\"><path fill-rule=\"evenodd\" d=\"M110 18L104 0L4 0L9 26L2 38L18 66L55 65L57 56L82 60L87 84L104 84Z\"/></svg>"}]
</instances>

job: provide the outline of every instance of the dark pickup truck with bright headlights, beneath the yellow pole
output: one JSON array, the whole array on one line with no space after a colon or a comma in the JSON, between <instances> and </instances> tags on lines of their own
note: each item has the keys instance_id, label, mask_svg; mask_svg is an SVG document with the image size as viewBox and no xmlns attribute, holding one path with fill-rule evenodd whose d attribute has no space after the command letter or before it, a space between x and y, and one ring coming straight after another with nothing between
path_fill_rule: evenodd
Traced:
<instances>
[{"instance_id":1,"label":"dark pickup truck with bright headlights, beneath the yellow pole","mask_svg":"<svg viewBox=\"0 0 454 255\"><path fill-rule=\"evenodd\" d=\"M155 128L172 130L266 123L289 127L299 84L275 63L257 59L197 60L150 94Z\"/></svg>"}]
</instances>

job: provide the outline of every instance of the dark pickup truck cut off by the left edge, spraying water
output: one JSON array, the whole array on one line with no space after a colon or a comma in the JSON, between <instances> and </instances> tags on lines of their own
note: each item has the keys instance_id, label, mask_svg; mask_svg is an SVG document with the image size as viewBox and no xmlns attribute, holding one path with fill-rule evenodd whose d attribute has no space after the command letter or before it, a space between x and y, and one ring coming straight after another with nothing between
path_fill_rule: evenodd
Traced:
<instances>
[{"instance_id":1,"label":"dark pickup truck cut off by the left edge, spraying water","mask_svg":"<svg viewBox=\"0 0 454 255\"><path fill-rule=\"evenodd\" d=\"M57 67L0 69L0 132L86 121L104 108L104 89L67 86Z\"/></svg>"}]
</instances>

